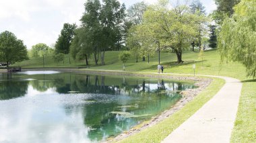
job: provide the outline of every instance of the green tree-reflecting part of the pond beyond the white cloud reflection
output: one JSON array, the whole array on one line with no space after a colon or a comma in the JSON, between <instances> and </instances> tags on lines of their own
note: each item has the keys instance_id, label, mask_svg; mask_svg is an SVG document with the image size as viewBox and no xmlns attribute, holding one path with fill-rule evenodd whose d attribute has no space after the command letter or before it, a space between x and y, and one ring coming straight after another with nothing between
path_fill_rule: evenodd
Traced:
<instances>
[{"instance_id":1,"label":"green tree-reflecting part of the pond beyond the white cloud reflection","mask_svg":"<svg viewBox=\"0 0 256 143\"><path fill-rule=\"evenodd\" d=\"M59 73L55 75L1 75L0 99L24 96L28 85L41 93L81 96L79 103L65 103L65 115L82 115L90 140L102 140L129 130L138 122L168 109L181 99L174 91L194 88L164 79ZM20 79L34 79L26 81ZM67 98L68 100L69 98Z\"/></svg>"}]
</instances>

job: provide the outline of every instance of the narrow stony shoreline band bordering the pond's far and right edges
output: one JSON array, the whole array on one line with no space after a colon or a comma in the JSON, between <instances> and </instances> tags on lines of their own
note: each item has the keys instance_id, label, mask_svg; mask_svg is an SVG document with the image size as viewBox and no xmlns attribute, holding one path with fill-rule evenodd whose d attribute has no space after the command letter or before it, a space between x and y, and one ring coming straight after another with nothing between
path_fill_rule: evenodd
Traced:
<instances>
[{"instance_id":1,"label":"narrow stony shoreline band bordering the pond's far and right edges","mask_svg":"<svg viewBox=\"0 0 256 143\"><path fill-rule=\"evenodd\" d=\"M24 68L23 68L24 69ZM26 69L26 68L25 68ZM193 81L193 85L197 86L196 89L187 89L182 91L180 94L183 96L175 105L172 105L170 109L166 109L162 113L154 116L151 120L141 121L141 123L133 126L127 131L115 136L108 137L104 142L117 142L137 134L146 128L150 128L159 122L162 122L170 115L176 113L182 109L187 103L192 101L201 91L206 89L213 81L209 77L194 77L194 76L182 76L182 75L172 75L171 73L142 73L142 72L127 72L122 70L91 70L91 69L77 69L77 68L29 68L26 70L58 70L61 72L72 72L72 73L84 73L88 75L117 75L117 76L128 76L128 77L152 77L152 78L165 78L174 81Z\"/></svg>"}]
</instances>

